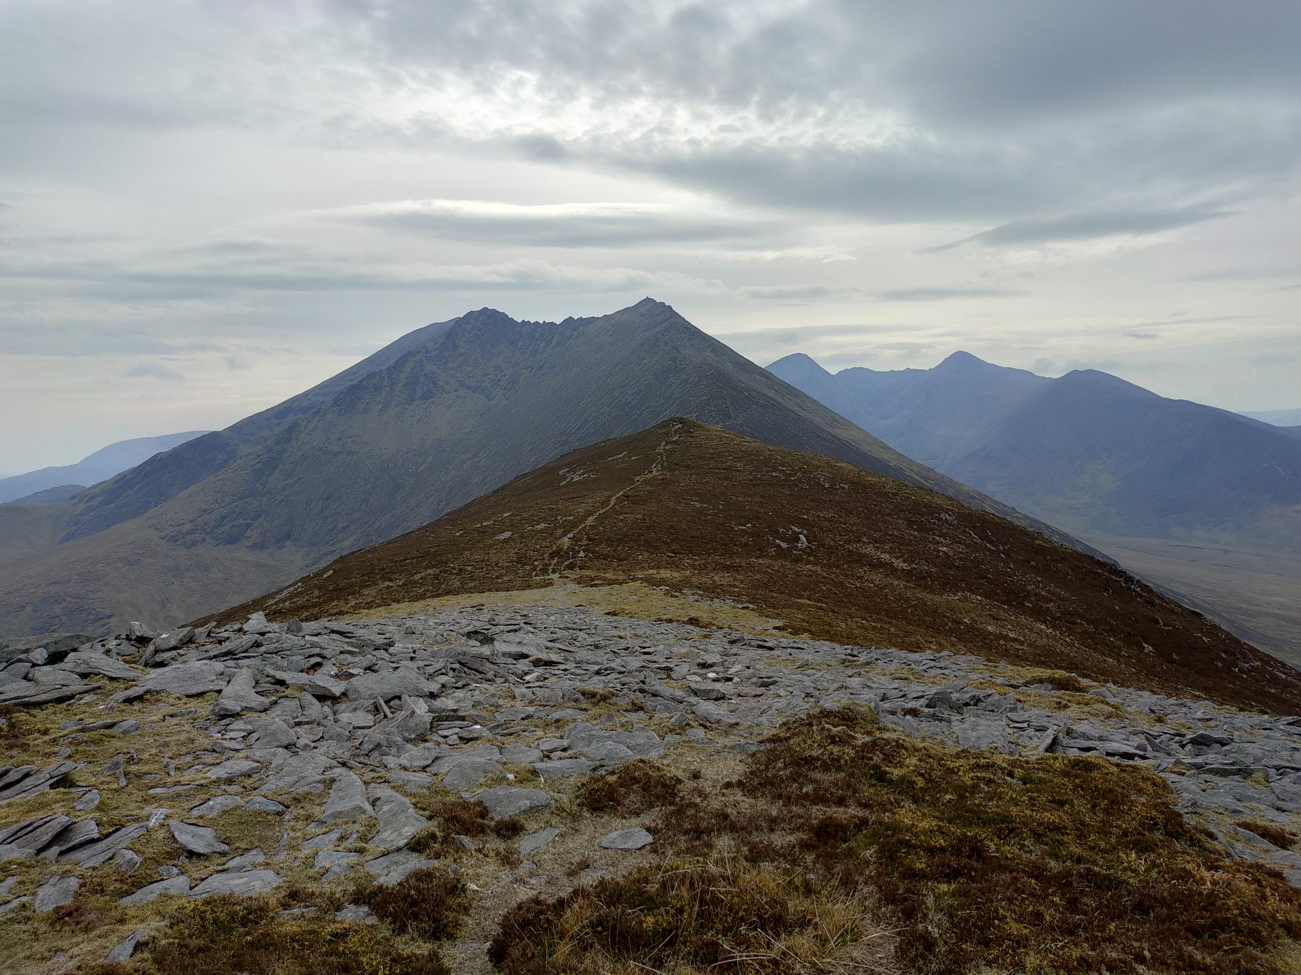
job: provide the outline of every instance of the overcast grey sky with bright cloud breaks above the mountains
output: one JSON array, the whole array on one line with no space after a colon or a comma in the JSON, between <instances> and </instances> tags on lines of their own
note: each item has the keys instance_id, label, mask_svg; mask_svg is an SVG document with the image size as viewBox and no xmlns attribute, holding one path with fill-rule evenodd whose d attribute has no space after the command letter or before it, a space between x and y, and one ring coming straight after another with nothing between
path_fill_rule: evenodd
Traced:
<instances>
[{"instance_id":1,"label":"overcast grey sky with bright cloud breaks above the mountains","mask_svg":"<svg viewBox=\"0 0 1301 975\"><path fill-rule=\"evenodd\" d=\"M483 306L1301 407L1301 4L0 0L0 474Z\"/></svg>"}]
</instances>

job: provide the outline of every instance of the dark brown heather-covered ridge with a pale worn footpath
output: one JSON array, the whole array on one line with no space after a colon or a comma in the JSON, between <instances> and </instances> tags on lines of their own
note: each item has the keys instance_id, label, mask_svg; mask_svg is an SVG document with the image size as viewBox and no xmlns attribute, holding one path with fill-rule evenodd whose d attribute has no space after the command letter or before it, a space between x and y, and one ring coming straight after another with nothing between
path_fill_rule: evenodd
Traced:
<instances>
[{"instance_id":1,"label":"dark brown heather-covered ridge with a pale worn footpath","mask_svg":"<svg viewBox=\"0 0 1301 975\"><path fill-rule=\"evenodd\" d=\"M690 420L574 451L220 619L640 581L795 630L1301 711L1301 673L1108 563L844 462Z\"/></svg>"}]
</instances>

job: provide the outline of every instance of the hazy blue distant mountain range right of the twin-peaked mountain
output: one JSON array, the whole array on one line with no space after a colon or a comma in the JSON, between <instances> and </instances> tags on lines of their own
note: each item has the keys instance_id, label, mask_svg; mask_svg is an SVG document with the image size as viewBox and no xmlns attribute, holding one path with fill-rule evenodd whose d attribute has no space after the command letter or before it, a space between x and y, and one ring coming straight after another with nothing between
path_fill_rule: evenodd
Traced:
<instances>
[{"instance_id":1,"label":"hazy blue distant mountain range right of the twin-peaked mountain","mask_svg":"<svg viewBox=\"0 0 1301 975\"><path fill-rule=\"evenodd\" d=\"M1294 430L1093 369L1046 378L967 352L933 369L833 374L800 354L769 369L908 456L1085 538L1301 659ZM1228 552L1267 566L1235 569ZM1279 599L1257 604L1262 585L1278 585Z\"/></svg>"}]
</instances>

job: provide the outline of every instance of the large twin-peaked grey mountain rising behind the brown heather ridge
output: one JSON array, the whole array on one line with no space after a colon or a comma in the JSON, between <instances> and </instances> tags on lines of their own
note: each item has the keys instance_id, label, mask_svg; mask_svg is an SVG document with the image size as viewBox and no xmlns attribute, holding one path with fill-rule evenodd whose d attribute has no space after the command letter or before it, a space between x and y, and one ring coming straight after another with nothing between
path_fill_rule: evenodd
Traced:
<instances>
[{"instance_id":1,"label":"large twin-peaked grey mountain rising behind the brown heather ridge","mask_svg":"<svg viewBox=\"0 0 1301 975\"><path fill-rule=\"evenodd\" d=\"M43 506L61 510L52 549L38 550L52 533L48 512L40 530L0 515L0 543L27 545L0 569L5 625L96 632L122 623L126 607L160 623L193 616L666 416L837 456L1028 521L650 299L558 324L483 309L396 346L281 407Z\"/></svg>"}]
</instances>

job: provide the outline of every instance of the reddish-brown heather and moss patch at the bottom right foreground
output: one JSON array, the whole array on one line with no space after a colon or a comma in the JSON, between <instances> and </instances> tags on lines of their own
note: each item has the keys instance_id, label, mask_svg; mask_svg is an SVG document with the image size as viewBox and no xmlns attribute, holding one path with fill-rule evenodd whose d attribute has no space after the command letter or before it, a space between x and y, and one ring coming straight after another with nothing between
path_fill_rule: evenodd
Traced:
<instances>
[{"instance_id":1,"label":"reddish-brown heather and moss patch at the bottom right foreground","mask_svg":"<svg viewBox=\"0 0 1301 975\"><path fill-rule=\"evenodd\" d=\"M507 975L632 962L835 970L816 953L800 968L761 952L736 920L781 940L812 898L852 902L874 931L895 930L894 963L917 974L1291 971L1301 892L1227 861L1174 801L1140 768L959 751L883 729L870 711L820 711L783 724L734 780L686 785L657 812L652 831L680 878L643 870L520 906L494 957ZM764 878L790 905L716 900L717 878L701 878L719 850L734 876Z\"/></svg>"}]
</instances>

